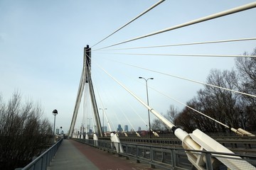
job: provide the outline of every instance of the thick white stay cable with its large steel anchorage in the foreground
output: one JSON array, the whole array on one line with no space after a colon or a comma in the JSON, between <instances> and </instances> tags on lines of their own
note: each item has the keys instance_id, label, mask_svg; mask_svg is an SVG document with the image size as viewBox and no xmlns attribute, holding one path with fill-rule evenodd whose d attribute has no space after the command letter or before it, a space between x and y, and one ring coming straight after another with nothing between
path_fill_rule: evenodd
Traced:
<instances>
[{"instance_id":1,"label":"thick white stay cable with its large steel anchorage in the foreground","mask_svg":"<svg viewBox=\"0 0 256 170\"><path fill-rule=\"evenodd\" d=\"M112 79L112 77L105 69L101 68L107 75L109 75ZM173 130L174 135L178 137L179 140L182 141L182 146L184 149L192 149L192 150L206 150L206 151L211 151L211 152L223 152L229 153L229 154L234 154L230 149L224 147L223 145L220 145L220 143L216 142L213 140L213 138L209 137L205 133L201 132L201 130L194 130L193 133L188 134L186 131L183 131L181 128L176 128L174 124L172 124L169 120L164 118L163 115L158 113L157 111L154 111L154 108L151 108L148 106L142 99L140 99L138 96L136 96L132 91L127 89L126 86L121 84L117 79L114 79L120 86L122 86L129 94L131 94L134 98L137 99L140 103L142 103L143 106L145 106L151 113L156 115L159 120L161 120L165 125L167 125L171 130ZM204 169L204 164L206 162L203 162L203 159L198 157L198 154L194 154L193 152L186 152L189 161L196 166L197 169ZM235 162L233 159L221 159L218 157L218 160L225 164L229 169L243 169L243 167L247 167L247 169L256 169L255 166L252 166L245 160L243 160L240 157L233 157L230 156L233 159L241 159L240 162Z\"/></svg>"}]
</instances>

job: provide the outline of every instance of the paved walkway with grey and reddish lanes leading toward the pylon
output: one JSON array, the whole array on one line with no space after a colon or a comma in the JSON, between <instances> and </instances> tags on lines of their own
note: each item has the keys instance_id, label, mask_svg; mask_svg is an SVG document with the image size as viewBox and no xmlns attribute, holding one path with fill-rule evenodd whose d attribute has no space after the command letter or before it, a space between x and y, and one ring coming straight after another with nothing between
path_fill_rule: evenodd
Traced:
<instances>
[{"instance_id":1,"label":"paved walkway with grey and reddish lanes leading toward the pylon","mask_svg":"<svg viewBox=\"0 0 256 170\"><path fill-rule=\"evenodd\" d=\"M151 169L149 164L137 164L132 159L117 157L115 154L104 152L100 149L75 142L63 140L58 152L55 154L48 170L63 169Z\"/></svg>"}]
</instances>

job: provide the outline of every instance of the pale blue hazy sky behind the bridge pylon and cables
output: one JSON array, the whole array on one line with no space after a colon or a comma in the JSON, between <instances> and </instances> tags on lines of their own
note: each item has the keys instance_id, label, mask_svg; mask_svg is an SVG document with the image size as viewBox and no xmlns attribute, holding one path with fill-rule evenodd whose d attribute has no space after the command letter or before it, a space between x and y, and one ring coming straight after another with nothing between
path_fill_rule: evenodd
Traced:
<instances>
[{"instance_id":1,"label":"pale blue hazy sky behind the bridge pylon and cables","mask_svg":"<svg viewBox=\"0 0 256 170\"><path fill-rule=\"evenodd\" d=\"M30 98L41 103L45 116L51 123L52 111L57 109L55 126L61 126L67 132L78 94L83 48L86 45L92 47L156 2L0 0L0 94L8 101L14 91L20 91L24 99ZM145 103L145 81L138 77L154 77L148 81L149 106L163 114L171 105L179 110L183 106L157 91L186 103L203 86L138 67L203 82L210 69L235 68L233 57L114 53L242 55L243 52L252 52L256 42L251 40L137 50L97 49L251 2L253 1L164 1L92 47L92 81L97 106L107 108L106 115L112 124L112 130L118 124L123 127L128 125L129 129L134 127L137 130L139 126L145 129L147 111L100 68L104 68ZM255 38L254 21L256 9L252 8L108 49ZM92 120L90 111L90 100L85 88L85 98L82 98L75 128ZM99 113L102 120L102 111L99 110ZM151 115L151 120L154 118ZM106 121L105 118L105 123Z\"/></svg>"}]
</instances>

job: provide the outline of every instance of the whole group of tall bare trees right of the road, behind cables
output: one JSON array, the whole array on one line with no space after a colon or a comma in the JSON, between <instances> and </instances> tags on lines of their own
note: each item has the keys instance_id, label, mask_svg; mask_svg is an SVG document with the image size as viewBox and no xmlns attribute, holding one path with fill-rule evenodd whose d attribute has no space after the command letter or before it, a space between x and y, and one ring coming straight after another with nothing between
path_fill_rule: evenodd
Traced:
<instances>
[{"instance_id":1,"label":"whole group of tall bare trees right of the road, behind cables","mask_svg":"<svg viewBox=\"0 0 256 170\"><path fill-rule=\"evenodd\" d=\"M247 52L244 55L248 55ZM250 55L256 55L256 48ZM206 83L247 94L256 94L256 58L238 57L235 59L238 72L212 69ZM256 98L236 94L213 86L205 86L198 91L188 106L201 111L211 118L232 128L256 130ZM227 129L203 115L184 108L175 119L175 124L191 132L199 128L206 132L225 132Z\"/></svg>"}]
</instances>

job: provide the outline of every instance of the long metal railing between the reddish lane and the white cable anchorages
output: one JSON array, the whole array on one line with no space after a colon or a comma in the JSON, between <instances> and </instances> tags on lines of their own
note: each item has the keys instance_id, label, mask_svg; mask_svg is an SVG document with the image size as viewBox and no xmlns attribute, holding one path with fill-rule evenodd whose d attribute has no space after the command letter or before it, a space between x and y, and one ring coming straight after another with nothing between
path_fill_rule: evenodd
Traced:
<instances>
[{"instance_id":1,"label":"long metal railing between the reddish lane and the white cable anchorages","mask_svg":"<svg viewBox=\"0 0 256 170\"><path fill-rule=\"evenodd\" d=\"M201 157L201 162L205 169L227 169L225 164L222 164L222 160L231 160L236 164L241 164L242 169L256 169L256 155L245 154L223 154L220 152L206 152L171 148L166 146L154 146L154 145L138 145L131 143L118 143L118 148L114 147L114 143L106 140L94 140L74 139L78 142L85 143L92 147L103 149L107 152L117 153L119 156L127 157L127 159L136 159L137 162L145 162L151 164L151 167L157 167L161 169L196 169L191 162L188 161L186 153L190 152L196 157ZM124 150L123 153L119 152L119 147ZM237 156L237 158L234 158ZM240 158L242 159L240 159ZM246 162L246 163L245 163ZM244 164L245 163L245 164ZM249 163L249 166L247 166ZM252 166L251 166L252 165Z\"/></svg>"}]
</instances>

